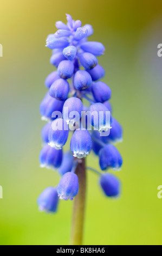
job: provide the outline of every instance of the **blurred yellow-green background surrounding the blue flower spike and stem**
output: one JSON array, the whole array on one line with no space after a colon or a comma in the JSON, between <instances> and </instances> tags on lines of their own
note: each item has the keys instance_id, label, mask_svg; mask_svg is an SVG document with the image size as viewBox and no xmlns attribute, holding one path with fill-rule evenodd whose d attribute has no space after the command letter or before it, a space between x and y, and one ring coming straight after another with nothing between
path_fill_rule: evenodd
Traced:
<instances>
[{"instance_id":1,"label":"blurred yellow-green background surrounding the blue flower spike and stem","mask_svg":"<svg viewBox=\"0 0 162 256\"><path fill-rule=\"evenodd\" d=\"M112 89L114 117L124 127L118 145L124 165L118 200L105 198L98 177L88 173L85 245L160 245L162 199L161 78L162 2L160 0L5 0L0 1L1 245L67 245L72 202L61 201L56 215L37 210L38 195L59 175L39 167L39 105L44 80L53 71L44 47L65 14L90 23L102 42L104 81ZM98 168L98 159L88 157Z\"/></svg>"}]
</instances>

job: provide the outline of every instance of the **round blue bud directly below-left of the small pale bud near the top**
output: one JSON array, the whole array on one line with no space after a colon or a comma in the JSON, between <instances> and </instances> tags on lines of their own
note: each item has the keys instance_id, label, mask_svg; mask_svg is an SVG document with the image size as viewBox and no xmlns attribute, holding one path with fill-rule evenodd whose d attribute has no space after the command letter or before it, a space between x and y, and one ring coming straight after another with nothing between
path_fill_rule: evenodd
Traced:
<instances>
[{"instance_id":1,"label":"round blue bud directly below-left of the small pale bud near the top","mask_svg":"<svg viewBox=\"0 0 162 256\"><path fill-rule=\"evenodd\" d=\"M74 64L70 60L62 60L57 68L57 74L64 78L68 79L73 76L74 73Z\"/></svg>"}]
</instances>

